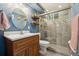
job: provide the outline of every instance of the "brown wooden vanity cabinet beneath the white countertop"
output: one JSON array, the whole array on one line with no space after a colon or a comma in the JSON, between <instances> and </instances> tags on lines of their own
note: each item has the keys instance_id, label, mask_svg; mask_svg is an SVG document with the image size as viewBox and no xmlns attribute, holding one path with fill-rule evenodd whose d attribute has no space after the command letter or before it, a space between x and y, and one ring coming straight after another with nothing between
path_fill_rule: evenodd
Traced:
<instances>
[{"instance_id":1,"label":"brown wooden vanity cabinet beneath the white countertop","mask_svg":"<svg viewBox=\"0 0 79 59\"><path fill-rule=\"evenodd\" d=\"M6 54L8 56L38 56L39 35L11 41L5 37Z\"/></svg>"}]
</instances>

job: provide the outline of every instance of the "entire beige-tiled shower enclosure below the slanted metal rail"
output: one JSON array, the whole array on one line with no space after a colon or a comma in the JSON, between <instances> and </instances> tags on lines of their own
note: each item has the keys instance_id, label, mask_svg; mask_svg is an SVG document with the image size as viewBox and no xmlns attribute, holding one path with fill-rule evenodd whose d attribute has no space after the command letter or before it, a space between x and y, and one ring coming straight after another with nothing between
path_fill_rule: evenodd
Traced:
<instances>
[{"instance_id":1,"label":"entire beige-tiled shower enclosure below the slanted metal rail","mask_svg":"<svg viewBox=\"0 0 79 59\"><path fill-rule=\"evenodd\" d=\"M39 23L41 39L50 42L48 50L70 55L71 8L44 15Z\"/></svg>"}]
</instances>

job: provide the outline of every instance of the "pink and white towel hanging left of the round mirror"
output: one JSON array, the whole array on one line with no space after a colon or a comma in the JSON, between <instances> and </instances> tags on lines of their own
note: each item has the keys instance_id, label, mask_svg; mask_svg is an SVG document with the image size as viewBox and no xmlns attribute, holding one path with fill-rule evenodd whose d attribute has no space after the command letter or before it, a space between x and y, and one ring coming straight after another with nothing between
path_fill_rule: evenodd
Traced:
<instances>
[{"instance_id":1,"label":"pink and white towel hanging left of the round mirror","mask_svg":"<svg viewBox=\"0 0 79 59\"><path fill-rule=\"evenodd\" d=\"M8 29L9 27L10 24L6 14L3 11L0 12L0 30Z\"/></svg>"}]
</instances>

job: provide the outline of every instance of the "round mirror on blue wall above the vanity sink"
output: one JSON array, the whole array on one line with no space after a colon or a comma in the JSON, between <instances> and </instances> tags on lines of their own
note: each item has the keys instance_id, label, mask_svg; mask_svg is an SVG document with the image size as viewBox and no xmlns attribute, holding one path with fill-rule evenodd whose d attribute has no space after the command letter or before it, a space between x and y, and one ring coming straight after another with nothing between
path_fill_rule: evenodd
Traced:
<instances>
[{"instance_id":1,"label":"round mirror on blue wall above the vanity sink","mask_svg":"<svg viewBox=\"0 0 79 59\"><path fill-rule=\"evenodd\" d=\"M27 23L26 14L21 9L14 9L12 12L12 22L16 28L23 30Z\"/></svg>"}]
</instances>

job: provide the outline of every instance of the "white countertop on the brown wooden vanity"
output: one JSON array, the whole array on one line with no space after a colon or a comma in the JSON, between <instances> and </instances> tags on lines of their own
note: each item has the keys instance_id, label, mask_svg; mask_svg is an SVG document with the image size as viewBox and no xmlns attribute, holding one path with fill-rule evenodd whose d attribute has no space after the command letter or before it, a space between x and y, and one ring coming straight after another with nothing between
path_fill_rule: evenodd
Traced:
<instances>
[{"instance_id":1,"label":"white countertop on the brown wooden vanity","mask_svg":"<svg viewBox=\"0 0 79 59\"><path fill-rule=\"evenodd\" d=\"M22 38L27 38L35 35L40 36L40 33L23 32L23 34L21 34L20 32L4 32L4 37L10 39L11 41L20 40Z\"/></svg>"}]
</instances>

